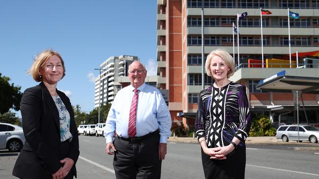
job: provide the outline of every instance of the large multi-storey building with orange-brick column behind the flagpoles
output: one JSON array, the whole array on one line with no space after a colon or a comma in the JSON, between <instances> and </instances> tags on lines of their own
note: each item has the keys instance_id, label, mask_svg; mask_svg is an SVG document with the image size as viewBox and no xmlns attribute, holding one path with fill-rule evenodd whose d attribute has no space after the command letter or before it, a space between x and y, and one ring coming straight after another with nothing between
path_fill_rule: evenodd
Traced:
<instances>
[{"instance_id":1,"label":"large multi-storey building with orange-brick column behind the flagpoles","mask_svg":"<svg viewBox=\"0 0 319 179\"><path fill-rule=\"evenodd\" d=\"M158 87L169 91L173 121L191 126L202 90L202 0L158 0L157 5L157 61L162 79ZM260 8L272 13L262 16L264 67ZM290 63L288 8L299 14L298 19L290 18L291 53L319 50L319 0L204 0L204 54L206 59L212 50L223 48L233 55L233 22L237 25L237 15L247 12L238 27L239 63L235 34L237 71L230 80L247 87L253 115L263 113L275 122L285 113L281 121L293 123L292 93L256 89L260 80L282 70L292 76L319 77L319 58L298 56L296 65L292 55L291 67L284 65ZM205 75L205 86L212 84L213 79ZM309 122L319 123L318 94L302 97ZM305 122L304 117L301 121Z\"/></svg>"}]
</instances>

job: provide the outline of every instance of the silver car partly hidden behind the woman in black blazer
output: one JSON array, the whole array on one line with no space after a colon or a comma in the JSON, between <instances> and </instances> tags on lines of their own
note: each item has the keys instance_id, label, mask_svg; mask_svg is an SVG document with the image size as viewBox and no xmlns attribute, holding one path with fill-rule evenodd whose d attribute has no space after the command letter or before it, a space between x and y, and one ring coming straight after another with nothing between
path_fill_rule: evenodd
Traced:
<instances>
[{"instance_id":1,"label":"silver car partly hidden behind the woman in black blazer","mask_svg":"<svg viewBox=\"0 0 319 179\"><path fill-rule=\"evenodd\" d=\"M20 152L26 138L22 127L13 124L0 123L0 149L10 152Z\"/></svg>"}]
</instances>

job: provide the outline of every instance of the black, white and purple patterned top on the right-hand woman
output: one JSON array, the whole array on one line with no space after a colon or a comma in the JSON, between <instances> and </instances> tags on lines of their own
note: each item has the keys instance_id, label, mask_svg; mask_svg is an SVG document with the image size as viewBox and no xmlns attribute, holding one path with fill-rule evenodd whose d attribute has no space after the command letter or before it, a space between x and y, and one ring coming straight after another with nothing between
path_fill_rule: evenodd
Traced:
<instances>
[{"instance_id":1,"label":"black, white and purple patterned top on the right-hand woman","mask_svg":"<svg viewBox=\"0 0 319 179\"><path fill-rule=\"evenodd\" d=\"M231 82L219 91L213 86L200 92L195 119L197 139L206 138L207 147L229 145L234 136L244 145L250 130L246 87Z\"/></svg>"}]
</instances>

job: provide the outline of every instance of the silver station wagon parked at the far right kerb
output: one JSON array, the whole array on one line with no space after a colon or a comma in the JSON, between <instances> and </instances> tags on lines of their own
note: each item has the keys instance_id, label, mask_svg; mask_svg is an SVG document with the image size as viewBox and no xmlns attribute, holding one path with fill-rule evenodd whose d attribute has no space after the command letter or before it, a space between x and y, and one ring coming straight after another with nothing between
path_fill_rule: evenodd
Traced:
<instances>
[{"instance_id":1,"label":"silver station wagon parked at the far right kerb","mask_svg":"<svg viewBox=\"0 0 319 179\"><path fill-rule=\"evenodd\" d=\"M298 126L285 125L280 126L276 132L276 138L281 138L283 142L289 140L298 141ZM319 139L319 130L313 126L299 125L299 141L310 141L317 143Z\"/></svg>"}]
</instances>

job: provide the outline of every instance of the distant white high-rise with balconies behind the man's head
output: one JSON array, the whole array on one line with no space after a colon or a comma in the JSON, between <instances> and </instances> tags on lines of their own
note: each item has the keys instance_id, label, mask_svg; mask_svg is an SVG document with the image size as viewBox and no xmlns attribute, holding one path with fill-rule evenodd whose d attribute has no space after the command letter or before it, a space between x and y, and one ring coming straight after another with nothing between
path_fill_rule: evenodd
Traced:
<instances>
[{"instance_id":1,"label":"distant white high-rise with balconies behind the man's head","mask_svg":"<svg viewBox=\"0 0 319 179\"><path fill-rule=\"evenodd\" d=\"M101 74L95 79L94 108L99 107L99 102L101 106L106 102L112 103L116 93L130 85L128 71L133 61L139 61L139 58L131 55L112 56L100 65ZM154 87L157 87L157 81L157 76L145 78L145 83Z\"/></svg>"}]
</instances>

